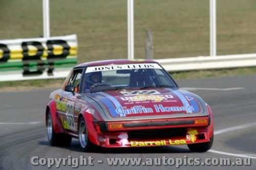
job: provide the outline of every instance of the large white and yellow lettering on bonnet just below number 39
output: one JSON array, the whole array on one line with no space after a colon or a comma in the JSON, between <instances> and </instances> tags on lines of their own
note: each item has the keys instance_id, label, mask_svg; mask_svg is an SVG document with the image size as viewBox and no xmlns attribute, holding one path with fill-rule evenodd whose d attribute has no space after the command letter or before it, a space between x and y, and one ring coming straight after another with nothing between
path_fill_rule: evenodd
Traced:
<instances>
[{"instance_id":1,"label":"large white and yellow lettering on bonnet just below number 39","mask_svg":"<svg viewBox=\"0 0 256 170\"><path fill-rule=\"evenodd\" d=\"M173 99L173 95L135 95L135 96L127 96L127 97L121 97L120 99L122 101L129 101L129 102L142 102L142 101L155 101L155 102L161 102L163 100L167 99Z\"/></svg>"}]
</instances>

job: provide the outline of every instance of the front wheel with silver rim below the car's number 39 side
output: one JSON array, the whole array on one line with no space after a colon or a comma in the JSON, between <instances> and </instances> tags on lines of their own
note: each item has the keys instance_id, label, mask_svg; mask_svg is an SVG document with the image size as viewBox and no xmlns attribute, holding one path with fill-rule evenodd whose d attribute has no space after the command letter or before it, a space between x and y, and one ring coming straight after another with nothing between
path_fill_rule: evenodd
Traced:
<instances>
[{"instance_id":1,"label":"front wheel with silver rim below the car's number 39 side","mask_svg":"<svg viewBox=\"0 0 256 170\"><path fill-rule=\"evenodd\" d=\"M80 118L78 127L78 138L82 151L91 151L93 148L93 144L89 140L86 122L84 121L83 117Z\"/></svg>"}]
</instances>

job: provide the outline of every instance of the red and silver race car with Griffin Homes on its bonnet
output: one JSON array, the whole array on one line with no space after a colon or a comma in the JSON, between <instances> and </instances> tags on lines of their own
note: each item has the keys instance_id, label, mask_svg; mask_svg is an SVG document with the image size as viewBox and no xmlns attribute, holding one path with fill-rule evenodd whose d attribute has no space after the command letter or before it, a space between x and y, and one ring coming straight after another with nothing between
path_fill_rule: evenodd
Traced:
<instances>
[{"instance_id":1,"label":"red and silver race car with Griffin Homes on its bonnet","mask_svg":"<svg viewBox=\"0 0 256 170\"><path fill-rule=\"evenodd\" d=\"M51 145L81 150L187 144L205 152L214 140L209 105L182 90L153 60L105 60L75 66L46 107Z\"/></svg>"}]
</instances>

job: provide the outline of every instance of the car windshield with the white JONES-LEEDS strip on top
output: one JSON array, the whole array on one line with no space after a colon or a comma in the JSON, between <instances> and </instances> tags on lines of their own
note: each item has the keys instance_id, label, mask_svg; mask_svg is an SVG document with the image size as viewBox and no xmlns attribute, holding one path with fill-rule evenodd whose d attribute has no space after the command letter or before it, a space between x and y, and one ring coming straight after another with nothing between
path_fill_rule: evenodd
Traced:
<instances>
[{"instance_id":1,"label":"car windshield with the white JONES-LEEDS strip on top","mask_svg":"<svg viewBox=\"0 0 256 170\"><path fill-rule=\"evenodd\" d=\"M177 87L157 63L92 66L86 69L83 92Z\"/></svg>"}]
</instances>

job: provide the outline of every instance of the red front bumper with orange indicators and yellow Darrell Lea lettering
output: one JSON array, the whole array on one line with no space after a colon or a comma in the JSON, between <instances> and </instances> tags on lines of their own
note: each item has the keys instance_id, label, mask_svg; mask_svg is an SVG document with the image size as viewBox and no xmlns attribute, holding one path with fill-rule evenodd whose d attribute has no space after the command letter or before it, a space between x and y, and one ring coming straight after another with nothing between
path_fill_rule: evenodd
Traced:
<instances>
[{"instance_id":1,"label":"red front bumper with orange indicators and yellow Darrell Lea lettering","mask_svg":"<svg viewBox=\"0 0 256 170\"><path fill-rule=\"evenodd\" d=\"M205 121L203 121L205 120ZM98 141L101 147L156 147L163 145L208 142L211 137L210 117L190 117L164 120L98 123ZM116 126L114 126L116 127Z\"/></svg>"}]
</instances>

